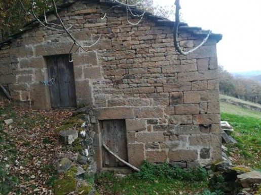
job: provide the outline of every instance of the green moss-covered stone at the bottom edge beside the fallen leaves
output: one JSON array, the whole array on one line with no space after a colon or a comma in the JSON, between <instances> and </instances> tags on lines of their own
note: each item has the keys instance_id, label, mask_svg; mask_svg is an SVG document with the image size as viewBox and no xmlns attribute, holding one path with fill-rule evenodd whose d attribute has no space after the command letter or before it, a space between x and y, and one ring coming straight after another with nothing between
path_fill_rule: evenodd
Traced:
<instances>
[{"instance_id":1,"label":"green moss-covered stone at the bottom edge beside the fallen leaves","mask_svg":"<svg viewBox=\"0 0 261 195\"><path fill-rule=\"evenodd\" d=\"M77 180L66 176L54 181L54 195L65 195L77 189Z\"/></svg>"}]
</instances>

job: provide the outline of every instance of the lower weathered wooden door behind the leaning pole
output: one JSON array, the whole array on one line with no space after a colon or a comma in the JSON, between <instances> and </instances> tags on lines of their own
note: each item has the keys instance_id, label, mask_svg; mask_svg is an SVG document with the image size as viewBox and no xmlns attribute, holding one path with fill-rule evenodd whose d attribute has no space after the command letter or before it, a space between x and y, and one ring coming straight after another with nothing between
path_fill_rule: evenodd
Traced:
<instances>
[{"instance_id":1,"label":"lower weathered wooden door behind the leaning pole","mask_svg":"<svg viewBox=\"0 0 261 195\"><path fill-rule=\"evenodd\" d=\"M102 142L117 154L128 161L125 120L103 120ZM124 167L125 165L111 155L105 148L102 149L103 167Z\"/></svg>"}]
</instances>

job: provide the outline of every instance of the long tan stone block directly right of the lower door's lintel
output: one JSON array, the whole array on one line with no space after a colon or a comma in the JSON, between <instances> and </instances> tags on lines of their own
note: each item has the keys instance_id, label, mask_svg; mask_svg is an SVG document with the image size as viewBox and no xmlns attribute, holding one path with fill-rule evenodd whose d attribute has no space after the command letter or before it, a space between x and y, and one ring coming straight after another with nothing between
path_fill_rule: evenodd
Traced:
<instances>
[{"instance_id":1,"label":"long tan stone block directly right of the lower door's lintel","mask_svg":"<svg viewBox=\"0 0 261 195\"><path fill-rule=\"evenodd\" d=\"M162 108L134 108L134 116L136 118L162 118L164 111Z\"/></svg>"}]
</instances>

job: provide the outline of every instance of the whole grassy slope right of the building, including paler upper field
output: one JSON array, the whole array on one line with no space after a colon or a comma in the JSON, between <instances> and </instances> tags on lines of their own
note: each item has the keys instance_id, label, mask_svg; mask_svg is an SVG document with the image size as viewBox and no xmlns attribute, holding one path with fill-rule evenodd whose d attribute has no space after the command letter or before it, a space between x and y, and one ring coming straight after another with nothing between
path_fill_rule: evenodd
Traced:
<instances>
[{"instance_id":1,"label":"whole grassy slope right of the building, including paler upper field","mask_svg":"<svg viewBox=\"0 0 261 195\"><path fill-rule=\"evenodd\" d=\"M255 104L255 106L261 105ZM221 120L228 121L234 127L233 137L238 141L234 145L227 144L230 154L235 159L234 163L261 170L261 112L226 102L220 103L220 111Z\"/></svg>"}]
</instances>

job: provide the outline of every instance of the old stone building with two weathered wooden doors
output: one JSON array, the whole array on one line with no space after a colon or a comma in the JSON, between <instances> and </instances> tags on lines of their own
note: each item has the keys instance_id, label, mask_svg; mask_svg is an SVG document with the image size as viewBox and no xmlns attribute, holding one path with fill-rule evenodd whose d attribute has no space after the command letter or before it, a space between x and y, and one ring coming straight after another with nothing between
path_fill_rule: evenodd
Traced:
<instances>
[{"instance_id":1,"label":"old stone building with two weathered wooden doors","mask_svg":"<svg viewBox=\"0 0 261 195\"><path fill-rule=\"evenodd\" d=\"M82 0L59 11L83 45L100 36L90 52L74 46L70 56L72 42L64 32L29 23L0 44L0 83L26 107L89 108L99 167L123 166L103 151L102 140L135 166L147 159L190 167L220 158L216 43L221 35L180 55L173 46L174 22L145 14L131 25L123 6L102 19L112 5ZM183 24L179 44L189 50L206 34Z\"/></svg>"}]
</instances>

